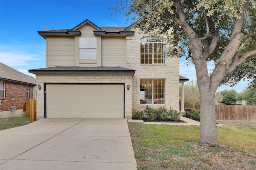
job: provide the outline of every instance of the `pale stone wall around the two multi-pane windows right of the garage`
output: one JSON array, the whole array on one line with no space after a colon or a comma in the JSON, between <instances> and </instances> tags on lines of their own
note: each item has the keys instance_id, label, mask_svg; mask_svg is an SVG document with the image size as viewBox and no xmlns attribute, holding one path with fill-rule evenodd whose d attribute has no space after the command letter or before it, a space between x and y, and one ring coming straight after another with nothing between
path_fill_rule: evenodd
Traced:
<instances>
[{"instance_id":1,"label":"pale stone wall around the two multi-pane windows right of the garage","mask_svg":"<svg viewBox=\"0 0 256 170\"><path fill-rule=\"evenodd\" d=\"M135 31L136 32L136 31ZM165 64L140 64L140 39L143 36L134 33L126 37L127 68L136 70L132 78L132 115L137 110L144 110L140 104L140 79L165 79L166 104L151 107L170 107L179 110L179 58L166 59Z\"/></svg>"}]
</instances>

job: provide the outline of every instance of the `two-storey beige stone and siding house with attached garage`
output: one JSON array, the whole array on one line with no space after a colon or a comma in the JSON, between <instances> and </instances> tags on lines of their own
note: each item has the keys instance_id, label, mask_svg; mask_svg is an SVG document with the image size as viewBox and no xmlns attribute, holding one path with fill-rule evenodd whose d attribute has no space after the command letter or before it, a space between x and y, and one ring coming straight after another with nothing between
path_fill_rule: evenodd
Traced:
<instances>
[{"instance_id":1,"label":"two-storey beige stone and siding house with attached garage","mask_svg":"<svg viewBox=\"0 0 256 170\"><path fill-rule=\"evenodd\" d=\"M179 59L166 59L166 40L129 27L98 27L85 20L72 29L38 31L46 39L46 68L36 74L37 119L132 119L145 106L179 109Z\"/></svg>"}]
</instances>

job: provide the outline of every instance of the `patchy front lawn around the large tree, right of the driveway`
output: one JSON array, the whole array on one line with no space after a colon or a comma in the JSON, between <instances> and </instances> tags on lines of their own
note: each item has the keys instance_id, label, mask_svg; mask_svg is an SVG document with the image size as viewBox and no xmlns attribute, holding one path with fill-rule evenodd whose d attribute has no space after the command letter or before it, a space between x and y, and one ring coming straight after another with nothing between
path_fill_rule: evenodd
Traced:
<instances>
[{"instance_id":1,"label":"patchy front lawn around the large tree, right of the driveway","mask_svg":"<svg viewBox=\"0 0 256 170\"><path fill-rule=\"evenodd\" d=\"M138 170L256 169L254 124L220 123L217 148L199 145L199 126L129 123Z\"/></svg>"}]
</instances>

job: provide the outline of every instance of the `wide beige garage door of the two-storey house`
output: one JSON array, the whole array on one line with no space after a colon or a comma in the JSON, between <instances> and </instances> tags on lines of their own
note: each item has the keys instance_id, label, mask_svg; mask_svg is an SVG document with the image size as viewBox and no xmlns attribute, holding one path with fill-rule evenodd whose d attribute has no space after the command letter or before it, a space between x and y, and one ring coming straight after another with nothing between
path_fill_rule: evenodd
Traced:
<instances>
[{"instance_id":1,"label":"wide beige garage door of the two-storey house","mask_svg":"<svg viewBox=\"0 0 256 170\"><path fill-rule=\"evenodd\" d=\"M122 84L46 84L47 118L123 118Z\"/></svg>"}]
</instances>

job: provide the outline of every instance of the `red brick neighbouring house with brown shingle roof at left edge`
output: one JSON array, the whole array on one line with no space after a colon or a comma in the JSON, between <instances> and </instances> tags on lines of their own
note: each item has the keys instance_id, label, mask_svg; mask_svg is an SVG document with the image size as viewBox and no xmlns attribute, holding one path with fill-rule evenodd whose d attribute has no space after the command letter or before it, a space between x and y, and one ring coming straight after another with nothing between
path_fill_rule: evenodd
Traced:
<instances>
[{"instance_id":1,"label":"red brick neighbouring house with brown shingle roof at left edge","mask_svg":"<svg viewBox=\"0 0 256 170\"><path fill-rule=\"evenodd\" d=\"M26 100L36 97L36 79L0 63L0 82L0 117L26 115Z\"/></svg>"}]
</instances>

